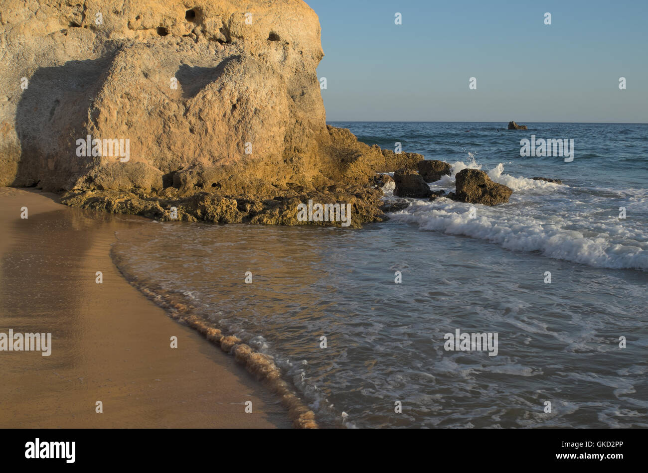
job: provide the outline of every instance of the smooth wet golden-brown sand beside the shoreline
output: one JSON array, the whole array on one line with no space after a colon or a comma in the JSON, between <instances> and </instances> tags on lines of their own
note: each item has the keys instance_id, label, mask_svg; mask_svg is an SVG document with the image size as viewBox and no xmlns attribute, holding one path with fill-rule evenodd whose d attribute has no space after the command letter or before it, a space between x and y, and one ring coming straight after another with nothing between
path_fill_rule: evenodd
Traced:
<instances>
[{"instance_id":1,"label":"smooth wet golden-brown sand beside the shoreline","mask_svg":"<svg viewBox=\"0 0 648 473\"><path fill-rule=\"evenodd\" d=\"M119 274L114 233L145 219L13 188L0 188L0 217L0 333L52 333L49 357L0 351L0 427L290 427L281 402L234 357Z\"/></svg>"}]
</instances>

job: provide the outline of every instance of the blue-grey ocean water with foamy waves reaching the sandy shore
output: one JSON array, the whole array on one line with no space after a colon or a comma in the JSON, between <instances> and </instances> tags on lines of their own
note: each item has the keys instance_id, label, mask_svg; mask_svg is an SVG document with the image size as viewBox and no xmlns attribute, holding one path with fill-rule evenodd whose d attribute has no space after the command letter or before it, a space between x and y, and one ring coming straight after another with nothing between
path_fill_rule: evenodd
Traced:
<instances>
[{"instance_id":1,"label":"blue-grey ocean water with foamy waves reaching the sandy shore","mask_svg":"<svg viewBox=\"0 0 648 473\"><path fill-rule=\"evenodd\" d=\"M513 195L408 199L360 230L146 223L117 234L124 276L272 357L321 426L648 427L648 125L332 125L445 160L435 190L469 167ZM532 134L573 161L520 157ZM457 329L496 356L446 349Z\"/></svg>"}]
</instances>

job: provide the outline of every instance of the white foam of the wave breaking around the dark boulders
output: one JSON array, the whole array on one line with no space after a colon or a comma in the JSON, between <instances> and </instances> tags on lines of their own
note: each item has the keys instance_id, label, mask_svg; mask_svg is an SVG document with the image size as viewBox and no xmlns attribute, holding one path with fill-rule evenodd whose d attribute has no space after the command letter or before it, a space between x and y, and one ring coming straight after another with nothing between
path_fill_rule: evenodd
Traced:
<instances>
[{"instance_id":1,"label":"white foam of the wave breaking around the dark boulders","mask_svg":"<svg viewBox=\"0 0 648 473\"><path fill-rule=\"evenodd\" d=\"M452 165L452 176L433 186L443 185L456 172L474 166L457 162ZM648 243L642 227L594 216L599 209L586 208L581 201L569 198L569 186L513 177L503 173L502 164L489 171L489 176L513 189L510 204L476 205L477 217L470 218L471 204L442 198L415 201L390 217L417 223L421 230L485 239L509 250L538 251L549 258L595 267L648 270Z\"/></svg>"}]
</instances>

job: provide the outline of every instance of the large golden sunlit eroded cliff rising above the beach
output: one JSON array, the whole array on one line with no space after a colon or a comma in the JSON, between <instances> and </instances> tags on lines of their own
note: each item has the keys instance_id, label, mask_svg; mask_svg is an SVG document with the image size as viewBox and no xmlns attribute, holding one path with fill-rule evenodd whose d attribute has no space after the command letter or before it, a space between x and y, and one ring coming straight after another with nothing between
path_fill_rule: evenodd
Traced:
<instances>
[{"instance_id":1,"label":"large golden sunlit eroded cliff rising above the beach","mask_svg":"<svg viewBox=\"0 0 648 473\"><path fill-rule=\"evenodd\" d=\"M326 125L319 33L301 0L5 0L0 185L135 212L137 195L262 202L415 168Z\"/></svg>"}]
</instances>

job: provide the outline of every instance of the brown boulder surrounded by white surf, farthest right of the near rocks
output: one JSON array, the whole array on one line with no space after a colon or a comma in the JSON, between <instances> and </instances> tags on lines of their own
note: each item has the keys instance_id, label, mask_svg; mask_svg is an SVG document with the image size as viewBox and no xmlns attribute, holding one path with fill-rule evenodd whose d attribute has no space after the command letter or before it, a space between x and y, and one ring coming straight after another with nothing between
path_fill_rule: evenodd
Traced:
<instances>
[{"instance_id":1,"label":"brown boulder surrounded by white surf, farthest right of the near rocks","mask_svg":"<svg viewBox=\"0 0 648 473\"><path fill-rule=\"evenodd\" d=\"M491 181L487 173L476 169L464 169L455 176L456 191L453 199L471 204L496 205L509 201L511 188Z\"/></svg>"}]
</instances>

